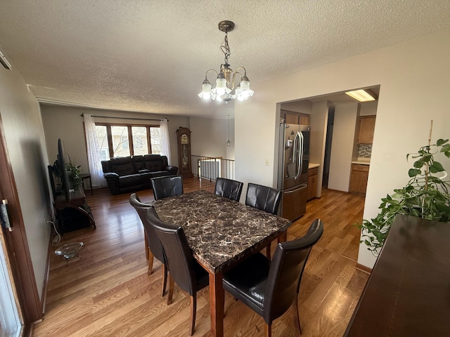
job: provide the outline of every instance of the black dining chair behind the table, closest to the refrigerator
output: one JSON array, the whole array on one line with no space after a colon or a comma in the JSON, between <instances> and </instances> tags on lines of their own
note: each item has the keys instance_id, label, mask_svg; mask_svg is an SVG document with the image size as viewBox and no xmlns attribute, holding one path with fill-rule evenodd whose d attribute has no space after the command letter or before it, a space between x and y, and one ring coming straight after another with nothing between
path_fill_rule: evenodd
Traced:
<instances>
[{"instance_id":1,"label":"black dining chair behind the table, closest to the refrigerator","mask_svg":"<svg viewBox=\"0 0 450 337\"><path fill-rule=\"evenodd\" d=\"M247 194L245 195L245 204L248 206L262 209L276 215L278 206L280 206L281 192L276 188L248 183ZM271 258L271 244L266 246L266 256Z\"/></svg>"}]
</instances>

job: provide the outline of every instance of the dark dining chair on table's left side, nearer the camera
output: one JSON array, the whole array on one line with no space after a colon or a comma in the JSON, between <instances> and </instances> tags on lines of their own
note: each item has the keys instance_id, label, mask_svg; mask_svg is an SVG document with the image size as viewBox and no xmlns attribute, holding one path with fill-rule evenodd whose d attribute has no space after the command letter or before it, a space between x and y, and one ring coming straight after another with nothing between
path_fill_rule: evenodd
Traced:
<instances>
[{"instance_id":1,"label":"dark dining chair on table's left side, nearer the camera","mask_svg":"<svg viewBox=\"0 0 450 337\"><path fill-rule=\"evenodd\" d=\"M195 330L197 291L209 284L209 275L193 258L191 248L181 226L163 223L153 207L147 211L148 222L153 226L162 244L169 269L169 293L167 304L172 303L174 283L191 296L191 336Z\"/></svg>"}]
</instances>

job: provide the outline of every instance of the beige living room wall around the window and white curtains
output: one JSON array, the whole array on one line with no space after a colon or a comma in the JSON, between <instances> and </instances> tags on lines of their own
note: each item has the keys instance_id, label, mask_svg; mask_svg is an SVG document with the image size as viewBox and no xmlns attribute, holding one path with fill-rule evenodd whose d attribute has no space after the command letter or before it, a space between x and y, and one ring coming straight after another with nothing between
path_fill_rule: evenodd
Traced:
<instances>
[{"instance_id":1,"label":"beige living room wall around the window and white curtains","mask_svg":"<svg viewBox=\"0 0 450 337\"><path fill-rule=\"evenodd\" d=\"M140 121L132 118L162 119L166 116L160 114L143 114L139 112L121 112L112 110L96 110L84 107L65 107L41 104L42 121L46 136L46 146L49 152L49 162L53 164L58 153L58 138L64 140L65 152L71 158L76 159L77 165L81 165L82 173L89 172L86 154L86 138L82 113L94 116L120 117L120 119L108 119L94 117L95 121L103 123L127 123L127 124L151 124L159 125L159 121ZM172 165L178 166L178 145L176 143L176 129L180 126L189 127L188 117L169 116L169 138L172 154Z\"/></svg>"}]
</instances>

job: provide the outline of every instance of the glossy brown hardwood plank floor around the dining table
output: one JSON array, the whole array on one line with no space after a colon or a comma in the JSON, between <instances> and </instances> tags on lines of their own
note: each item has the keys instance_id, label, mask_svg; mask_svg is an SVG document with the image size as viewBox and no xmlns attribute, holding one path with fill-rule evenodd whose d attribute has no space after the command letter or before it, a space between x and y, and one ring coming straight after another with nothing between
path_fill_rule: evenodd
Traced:
<instances>
[{"instance_id":1,"label":"glossy brown hardwood plank floor around the dining table","mask_svg":"<svg viewBox=\"0 0 450 337\"><path fill-rule=\"evenodd\" d=\"M214 182L184 180L184 192L214 191ZM137 192L141 201L153 200L151 190ZM87 194L96 220L91 227L63 235L61 246L84 242L85 248L66 267L50 253L50 274L43 322L33 336L188 336L189 296L175 286L172 305L160 294L161 263L147 273L143 227L128 201L107 189ZM314 246L300 286L302 336L342 336L368 275L355 269L364 197L323 190L309 201L307 213L288 230L288 239L301 237L314 218L324 233ZM272 244L272 249L275 244ZM198 293L194 336L210 336L208 288ZM292 308L273 324L273 336L297 336ZM264 336L264 321L242 303L225 296L225 336Z\"/></svg>"}]
</instances>

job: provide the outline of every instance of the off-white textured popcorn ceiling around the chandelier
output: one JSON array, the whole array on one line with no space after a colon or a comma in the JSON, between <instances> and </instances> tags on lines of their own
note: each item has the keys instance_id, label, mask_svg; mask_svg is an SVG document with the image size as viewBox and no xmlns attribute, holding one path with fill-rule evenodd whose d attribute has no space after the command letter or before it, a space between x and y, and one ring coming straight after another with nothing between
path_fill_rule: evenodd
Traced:
<instances>
[{"instance_id":1,"label":"off-white textured popcorn ceiling around the chandelier","mask_svg":"<svg viewBox=\"0 0 450 337\"><path fill-rule=\"evenodd\" d=\"M450 27L449 0L2 0L0 6L0 51L40 100L207 117L233 114L233 103L197 96L205 71L224 60L221 20L236 23L231 68L244 66L253 84Z\"/></svg>"}]
</instances>

